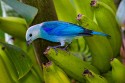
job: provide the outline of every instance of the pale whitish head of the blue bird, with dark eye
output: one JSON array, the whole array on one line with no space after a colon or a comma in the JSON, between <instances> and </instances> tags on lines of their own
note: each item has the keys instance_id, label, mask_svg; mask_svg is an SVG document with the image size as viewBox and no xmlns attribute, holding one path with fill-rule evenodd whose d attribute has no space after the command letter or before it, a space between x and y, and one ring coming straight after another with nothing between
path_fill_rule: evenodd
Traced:
<instances>
[{"instance_id":1,"label":"pale whitish head of the blue bird, with dark eye","mask_svg":"<svg viewBox=\"0 0 125 83\"><path fill-rule=\"evenodd\" d=\"M37 24L28 28L26 32L27 44L30 44L32 41L34 41L37 38L40 38L40 28L41 28L41 24Z\"/></svg>"}]
</instances>

